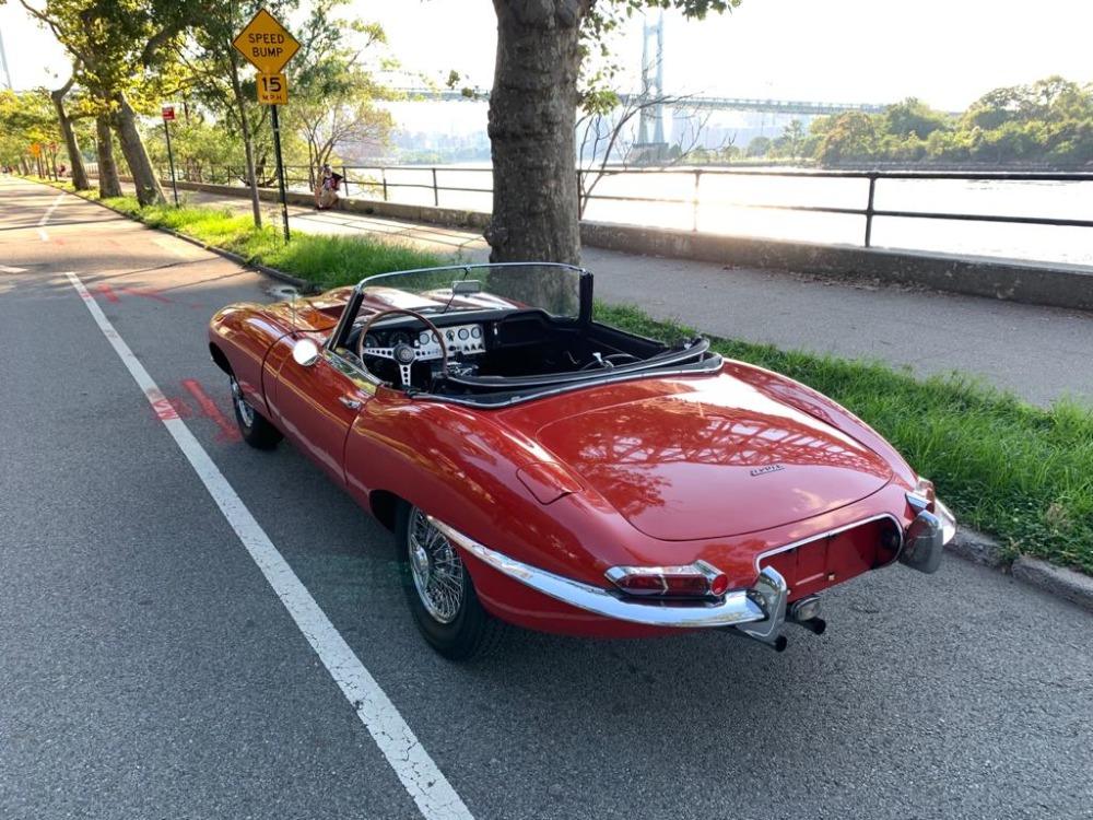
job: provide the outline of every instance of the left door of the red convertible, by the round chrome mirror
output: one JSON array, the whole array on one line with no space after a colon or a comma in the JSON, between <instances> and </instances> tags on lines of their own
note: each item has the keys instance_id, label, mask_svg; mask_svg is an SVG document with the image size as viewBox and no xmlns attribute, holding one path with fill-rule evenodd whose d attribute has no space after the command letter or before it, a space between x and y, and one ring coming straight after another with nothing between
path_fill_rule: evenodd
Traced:
<instances>
[{"instance_id":1,"label":"left door of the red convertible, by the round chrome mirror","mask_svg":"<svg viewBox=\"0 0 1093 820\"><path fill-rule=\"evenodd\" d=\"M321 343L321 342L320 342ZM309 364L282 355L273 389L281 431L338 483L345 484L345 438L375 385L352 363L324 347Z\"/></svg>"}]
</instances>

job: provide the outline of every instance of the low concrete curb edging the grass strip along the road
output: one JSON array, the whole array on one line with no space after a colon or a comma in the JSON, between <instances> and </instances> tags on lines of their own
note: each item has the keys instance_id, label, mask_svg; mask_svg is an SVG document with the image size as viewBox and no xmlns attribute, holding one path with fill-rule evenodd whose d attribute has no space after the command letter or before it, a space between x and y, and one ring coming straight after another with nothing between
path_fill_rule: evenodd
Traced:
<instances>
[{"instance_id":1,"label":"low concrete curb edging the grass strip along the road","mask_svg":"<svg viewBox=\"0 0 1093 820\"><path fill-rule=\"evenodd\" d=\"M98 202L97 200L89 199L86 201L95 202L96 204L114 211L121 216L126 216L127 219L133 219L130 214L119 211L116 208L110 208L109 206ZM148 225L148 223L141 220L137 221L140 221L141 224ZM256 270L272 279L316 292L314 290L314 283L297 279L296 277L284 273L275 268L248 262L237 254L208 245L200 239L178 233L172 229L155 227L153 225L148 225L148 227L153 227L156 231L163 231L164 233L171 234L179 239L184 239L190 244L197 245L198 247L204 248L205 250L218 254L244 268ZM957 558L1012 575L1015 581L1019 581L1022 584L1026 584L1035 587L1036 589L1041 589L1042 591L1062 598L1063 600L1068 600L1088 612L1093 612L1093 578L1086 575L1074 572L1073 570L1055 566L1054 564L1049 564L1041 559L1029 558L1025 555L1018 558L1011 564L1009 559L1003 555L1003 550L997 541L982 532L977 532L976 530L968 529L966 527L957 528L955 537L945 549Z\"/></svg>"}]
</instances>

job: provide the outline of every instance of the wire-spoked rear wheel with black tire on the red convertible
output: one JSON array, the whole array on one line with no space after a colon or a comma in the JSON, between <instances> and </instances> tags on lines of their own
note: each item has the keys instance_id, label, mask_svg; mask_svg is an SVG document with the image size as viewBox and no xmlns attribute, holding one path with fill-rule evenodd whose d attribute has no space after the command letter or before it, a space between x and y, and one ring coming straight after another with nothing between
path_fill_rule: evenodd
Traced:
<instances>
[{"instance_id":1,"label":"wire-spoked rear wheel with black tire on the red convertible","mask_svg":"<svg viewBox=\"0 0 1093 820\"><path fill-rule=\"evenodd\" d=\"M407 602L430 646L450 660L493 648L504 624L482 608L458 551L428 516L400 504L395 537Z\"/></svg>"}]
</instances>

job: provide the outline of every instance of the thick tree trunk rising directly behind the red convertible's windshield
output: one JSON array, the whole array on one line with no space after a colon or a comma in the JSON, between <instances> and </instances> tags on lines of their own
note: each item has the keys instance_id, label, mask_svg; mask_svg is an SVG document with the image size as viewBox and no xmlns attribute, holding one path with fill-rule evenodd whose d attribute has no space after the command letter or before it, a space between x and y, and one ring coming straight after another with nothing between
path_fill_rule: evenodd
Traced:
<instances>
[{"instance_id":1,"label":"thick tree trunk rising directly behind the red convertible's windshield","mask_svg":"<svg viewBox=\"0 0 1093 820\"><path fill-rule=\"evenodd\" d=\"M494 0L491 261L580 262L578 38L593 1Z\"/></svg>"}]
</instances>

